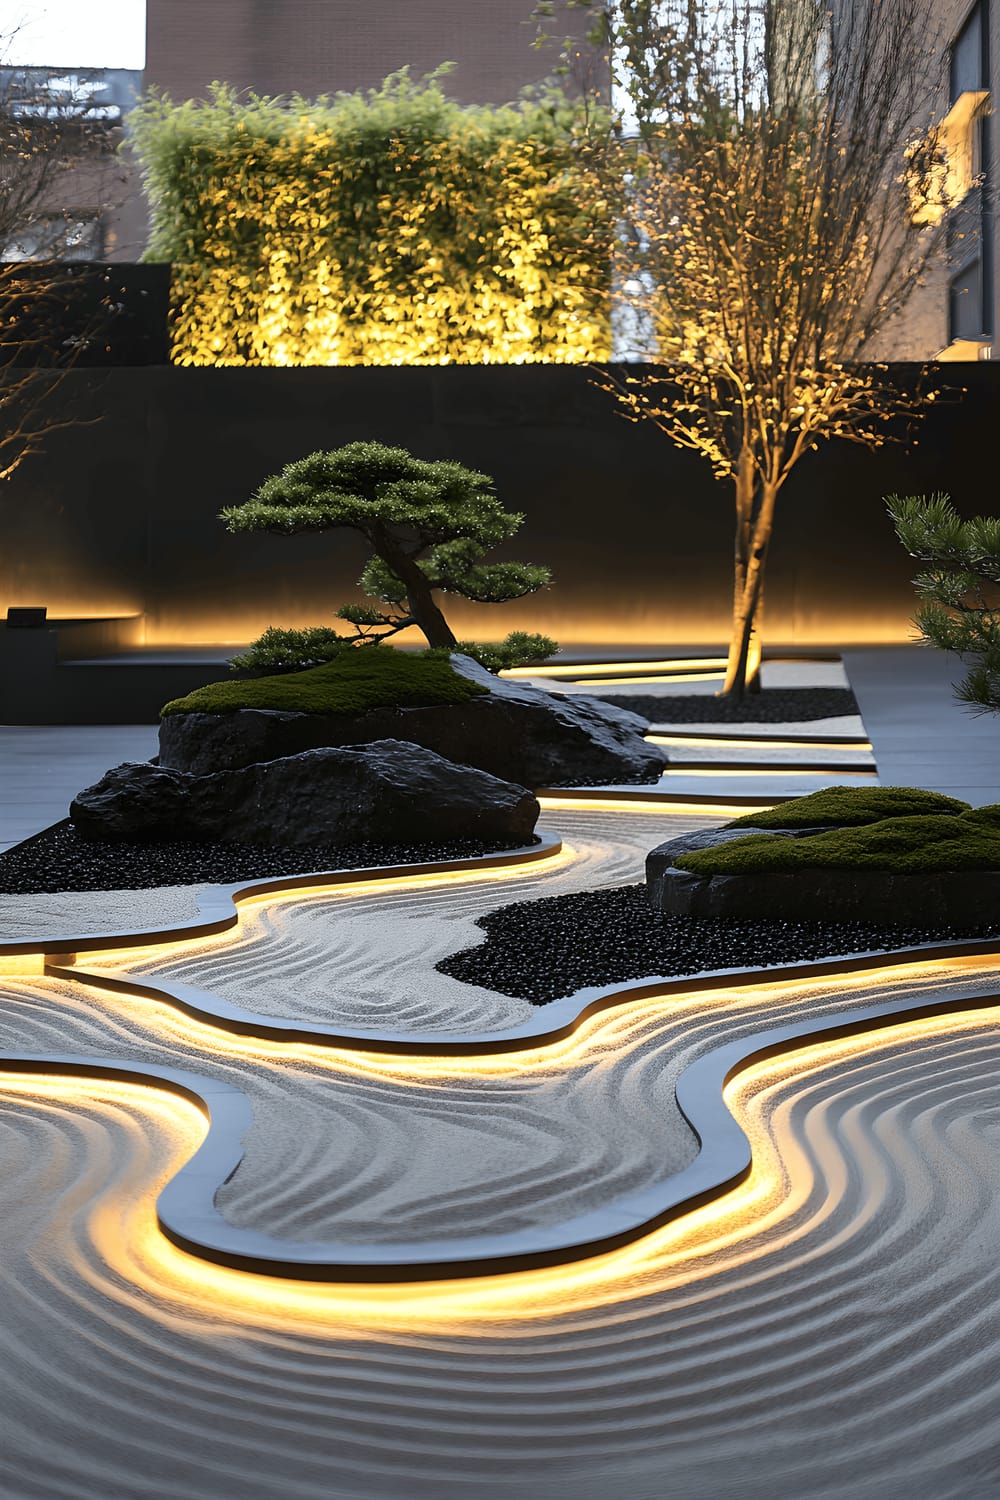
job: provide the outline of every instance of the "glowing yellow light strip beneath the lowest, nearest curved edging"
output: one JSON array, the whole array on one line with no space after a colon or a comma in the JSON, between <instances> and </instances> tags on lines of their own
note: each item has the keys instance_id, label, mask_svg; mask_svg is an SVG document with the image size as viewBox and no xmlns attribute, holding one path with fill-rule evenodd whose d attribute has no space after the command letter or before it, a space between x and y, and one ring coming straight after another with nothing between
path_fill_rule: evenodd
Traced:
<instances>
[{"instance_id":1,"label":"glowing yellow light strip beneath the lowest, nearest curved edging","mask_svg":"<svg viewBox=\"0 0 1000 1500\"><path fill-rule=\"evenodd\" d=\"M790 1059L793 1077L798 1082L802 1074L816 1072L828 1059L843 1065L858 1053L873 1054L888 1046L906 1048L913 1040L942 1034L961 1035L996 1024L997 1018L975 1012L897 1023L885 1034L873 1030L862 1038L828 1040L819 1058L817 1048L796 1048ZM630 1293L643 1298L669 1293L702 1280L706 1268L756 1264L763 1234L769 1246L796 1238L795 1210L805 1202L810 1184L789 1173L759 1119L753 1095L753 1082L774 1074L772 1060L757 1062L727 1086L730 1107L739 1110L753 1137L753 1172L738 1188L631 1245L556 1269L349 1287L255 1276L178 1251L156 1227L151 1188L135 1197L114 1196L99 1202L88 1216L87 1232L111 1275L111 1294L135 1299L144 1318L159 1318L166 1326L174 1326L177 1316L202 1318L208 1312L213 1324L238 1334L256 1328L285 1335L294 1328L324 1341L334 1334L369 1341L393 1335L412 1338L417 1332L484 1334L492 1328L508 1335L511 1320L549 1326L553 1316L573 1312L585 1312L595 1320L591 1326L600 1326L604 1317L621 1318L622 1302ZM64 1098L69 1084L58 1083ZM37 1077L30 1084L33 1094L49 1092ZM102 1092L108 1088L103 1084ZM81 1089L81 1095L85 1107L88 1094ZM169 1102L168 1096L162 1101L163 1106Z\"/></svg>"}]
</instances>

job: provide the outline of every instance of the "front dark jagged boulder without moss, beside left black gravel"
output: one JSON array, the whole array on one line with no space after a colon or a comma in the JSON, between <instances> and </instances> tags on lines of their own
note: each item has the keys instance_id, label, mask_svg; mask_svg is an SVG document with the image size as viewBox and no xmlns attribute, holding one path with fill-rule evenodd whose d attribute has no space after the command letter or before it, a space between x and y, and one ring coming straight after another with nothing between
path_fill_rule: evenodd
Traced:
<instances>
[{"instance_id":1,"label":"front dark jagged boulder without moss, beside left black gravel","mask_svg":"<svg viewBox=\"0 0 1000 1500\"><path fill-rule=\"evenodd\" d=\"M421 746L379 740L213 776L120 765L79 792L69 816L84 838L100 840L526 843L538 802L523 786L453 765Z\"/></svg>"}]
</instances>

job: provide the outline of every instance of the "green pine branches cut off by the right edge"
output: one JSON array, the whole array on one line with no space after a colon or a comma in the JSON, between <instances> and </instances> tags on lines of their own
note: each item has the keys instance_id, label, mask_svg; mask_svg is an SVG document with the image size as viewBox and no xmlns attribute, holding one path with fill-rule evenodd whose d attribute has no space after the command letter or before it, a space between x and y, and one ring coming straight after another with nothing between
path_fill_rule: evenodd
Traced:
<instances>
[{"instance_id":1,"label":"green pine branches cut off by the right edge","mask_svg":"<svg viewBox=\"0 0 1000 1500\"><path fill-rule=\"evenodd\" d=\"M970 658L955 696L1000 712L1000 516L963 520L948 495L889 495L900 542L919 562L915 624L928 645Z\"/></svg>"}]
</instances>

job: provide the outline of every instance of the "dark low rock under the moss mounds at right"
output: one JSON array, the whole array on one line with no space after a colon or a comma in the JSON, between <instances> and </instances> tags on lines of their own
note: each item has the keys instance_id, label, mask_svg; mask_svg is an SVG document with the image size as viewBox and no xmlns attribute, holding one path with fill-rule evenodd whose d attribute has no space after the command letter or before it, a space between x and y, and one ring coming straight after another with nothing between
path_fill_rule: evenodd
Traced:
<instances>
[{"instance_id":1,"label":"dark low rock under the moss mounds at right","mask_svg":"<svg viewBox=\"0 0 1000 1500\"><path fill-rule=\"evenodd\" d=\"M672 916L757 916L766 921L931 922L973 927L996 922L1000 872L799 868L790 873L694 874L673 860L747 834L805 838L823 828L714 828L684 834L646 856L646 894Z\"/></svg>"}]
</instances>

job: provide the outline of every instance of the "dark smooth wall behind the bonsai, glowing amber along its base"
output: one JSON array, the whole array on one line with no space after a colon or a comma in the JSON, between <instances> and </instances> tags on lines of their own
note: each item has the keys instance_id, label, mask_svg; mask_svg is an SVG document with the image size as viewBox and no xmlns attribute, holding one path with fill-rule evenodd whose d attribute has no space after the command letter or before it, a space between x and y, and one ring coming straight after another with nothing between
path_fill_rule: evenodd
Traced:
<instances>
[{"instance_id":1,"label":"dark smooth wall behind the bonsai, glowing amber along its base","mask_svg":"<svg viewBox=\"0 0 1000 1500\"><path fill-rule=\"evenodd\" d=\"M898 378L912 376L898 370ZM909 452L832 442L781 494L769 640L903 640L913 564L883 495L984 492L996 364L942 369ZM961 387L966 387L964 394ZM73 370L67 428L0 489L0 612L145 615L145 638L246 642L265 626L330 622L357 597L348 532L231 537L216 519L291 459L358 438L492 474L525 525L507 555L553 568L550 591L502 608L447 604L459 634L546 630L564 644L709 644L730 615L732 488L651 426L618 416L573 366Z\"/></svg>"}]
</instances>

